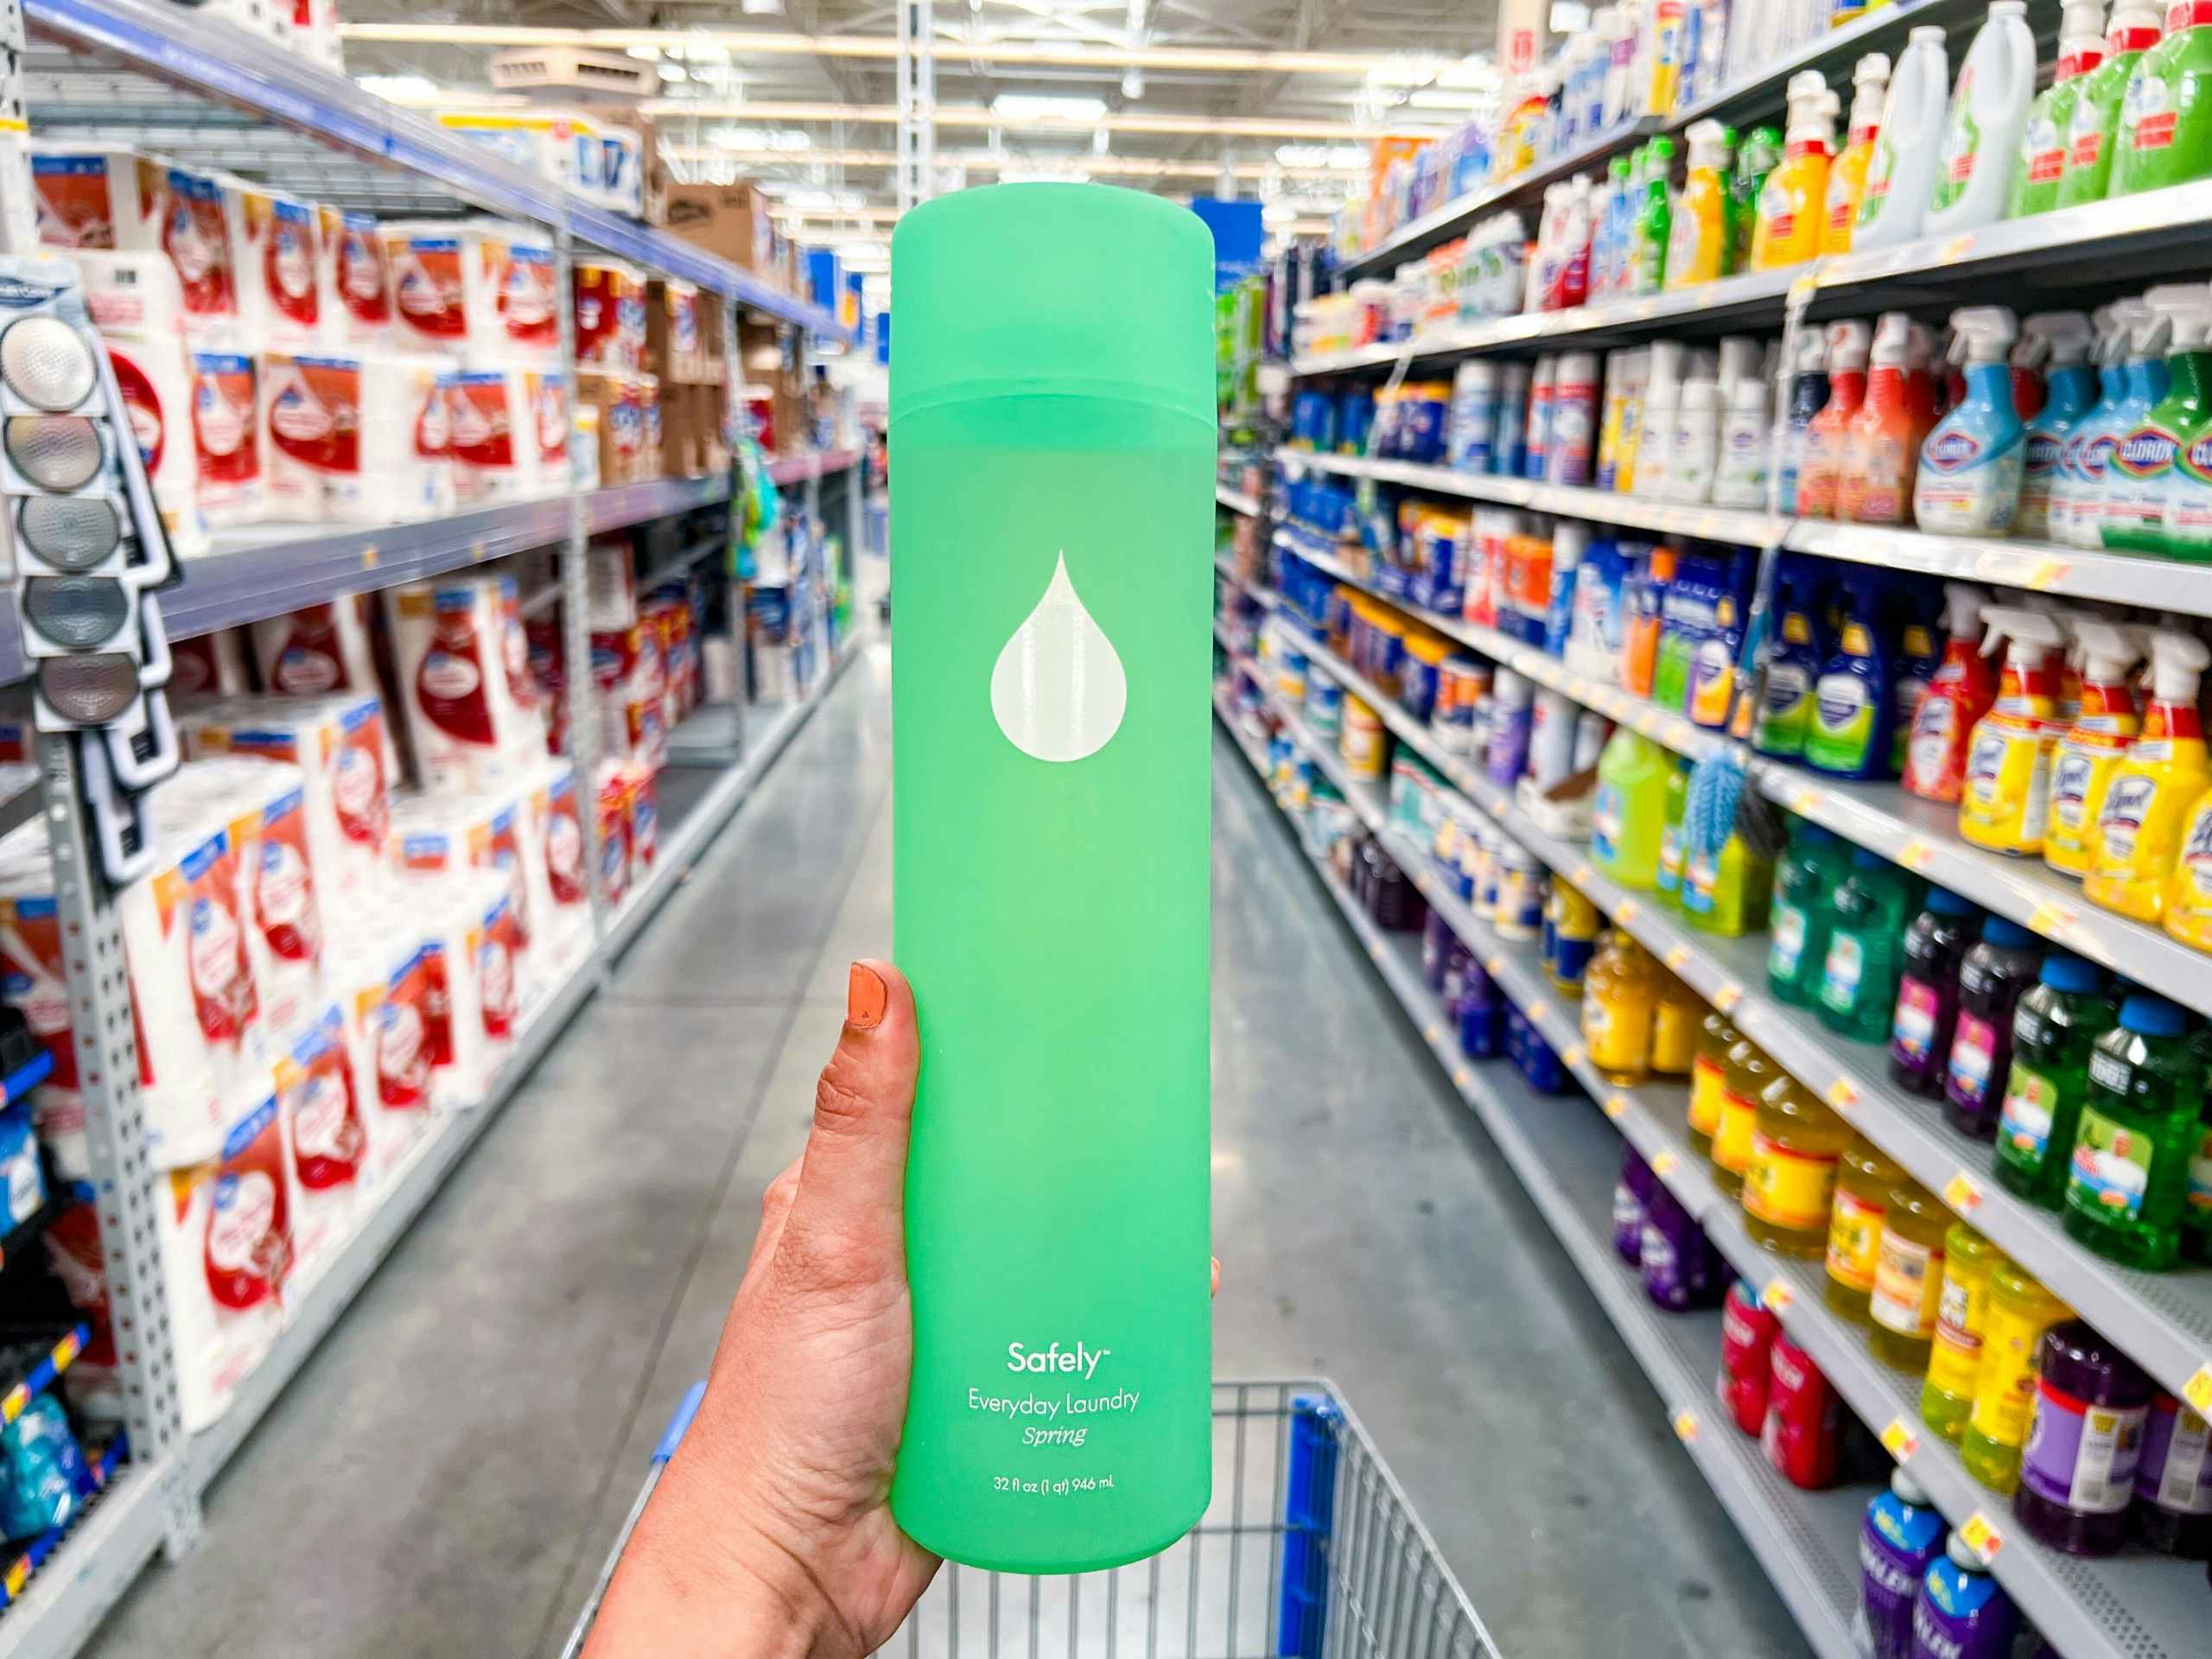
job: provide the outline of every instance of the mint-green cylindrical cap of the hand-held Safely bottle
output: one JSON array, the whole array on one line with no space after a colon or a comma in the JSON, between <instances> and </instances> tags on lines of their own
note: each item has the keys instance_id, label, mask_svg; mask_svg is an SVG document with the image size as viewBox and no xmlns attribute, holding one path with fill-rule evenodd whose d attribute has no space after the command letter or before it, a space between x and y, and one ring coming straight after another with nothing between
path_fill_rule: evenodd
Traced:
<instances>
[{"instance_id":1,"label":"mint-green cylindrical cap of the hand-held Safely bottle","mask_svg":"<svg viewBox=\"0 0 2212 1659\"><path fill-rule=\"evenodd\" d=\"M1212 237L1104 184L991 184L891 232L891 420L947 403L1113 398L1217 425Z\"/></svg>"}]
</instances>

